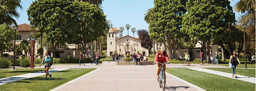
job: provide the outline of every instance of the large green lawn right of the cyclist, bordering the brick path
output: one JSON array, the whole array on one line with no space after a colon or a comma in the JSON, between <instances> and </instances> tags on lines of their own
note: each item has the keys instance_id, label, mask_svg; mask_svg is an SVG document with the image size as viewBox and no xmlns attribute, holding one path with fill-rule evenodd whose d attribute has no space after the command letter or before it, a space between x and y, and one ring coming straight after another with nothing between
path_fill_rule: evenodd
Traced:
<instances>
[{"instance_id":1,"label":"large green lawn right of the cyclist, bordering the brick path","mask_svg":"<svg viewBox=\"0 0 256 91\"><path fill-rule=\"evenodd\" d=\"M255 91L254 83L188 68L166 68L166 72L207 91Z\"/></svg>"}]
</instances>

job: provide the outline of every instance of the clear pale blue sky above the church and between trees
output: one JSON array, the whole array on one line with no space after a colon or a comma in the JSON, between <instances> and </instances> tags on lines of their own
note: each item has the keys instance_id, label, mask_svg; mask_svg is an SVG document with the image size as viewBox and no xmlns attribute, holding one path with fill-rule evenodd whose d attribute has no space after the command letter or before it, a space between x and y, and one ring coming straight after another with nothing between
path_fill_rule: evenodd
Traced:
<instances>
[{"instance_id":1,"label":"clear pale blue sky above the church and between trees","mask_svg":"<svg viewBox=\"0 0 256 91\"><path fill-rule=\"evenodd\" d=\"M18 9L20 18L15 19L17 24L29 24L27 20L27 9L29 8L32 1L35 0L21 0L23 10ZM233 7L239 0L230 1L230 5ZM126 24L130 24L129 36L133 37L132 28L136 30L146 29L148 30L148 24L144 21L144 14L150 8L154 7L154 0L104 0L102 2L102 10L104 15L107 16L107 20L112 21L113 28L124 27L123 36L128 35ZM234 10L233 10L234 11ZM236 18L241 14L235 12ZM138 37L137 32L134 33L134 37Z\"/></svg>"}]
</instances>

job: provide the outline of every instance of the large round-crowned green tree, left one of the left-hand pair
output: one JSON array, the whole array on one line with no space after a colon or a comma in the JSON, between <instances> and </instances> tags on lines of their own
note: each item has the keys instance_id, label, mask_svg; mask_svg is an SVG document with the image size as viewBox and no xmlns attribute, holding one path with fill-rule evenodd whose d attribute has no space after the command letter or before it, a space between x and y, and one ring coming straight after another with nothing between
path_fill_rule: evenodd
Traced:
<instances>
[{"instance_id":1,"label":"large round-crowned green tree, left one of the left-hand pair","mask_svg":"<svg viewBox=\"0 0 256 91\"><path fill-rule=\"evenodd\" d=\"M69 44L77 37L78 13L69 0L36 0L27 9L27 15L32 31L39 29L35 36L46 33L46 40L51 41L53 57L60 41Z\"/></svg>"}]
</instances>

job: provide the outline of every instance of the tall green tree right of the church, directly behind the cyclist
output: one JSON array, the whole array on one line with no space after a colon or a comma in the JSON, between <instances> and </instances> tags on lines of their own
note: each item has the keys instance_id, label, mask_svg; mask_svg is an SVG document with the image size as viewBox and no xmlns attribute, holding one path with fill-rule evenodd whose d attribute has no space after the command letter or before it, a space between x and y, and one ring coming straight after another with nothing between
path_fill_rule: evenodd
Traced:
<instances>
[{"instance_id":1,"label":"tall green tree right of the church, directly behind the cyclist","mask_svg":"<svg viewBox=\"0 0 256 91\"><path fill-rule=\"evenodd\" d=\"M181 29L182 15L187 0L155 0L150 15L150 38L164 43L169 59L174 59L174 50L178 39L183 36Z\"/></svg>"}]
</instances>

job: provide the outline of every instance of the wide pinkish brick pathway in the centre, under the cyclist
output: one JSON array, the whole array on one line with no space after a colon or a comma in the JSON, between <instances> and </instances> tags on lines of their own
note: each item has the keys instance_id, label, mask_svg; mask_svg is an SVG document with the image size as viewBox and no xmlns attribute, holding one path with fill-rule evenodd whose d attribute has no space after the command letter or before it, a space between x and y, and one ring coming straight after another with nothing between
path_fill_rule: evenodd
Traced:
<instances>
[{"instance_id":1,"label":"wide pinkish brick pathway in the centre, under the cyclist","mask_svg":"<svg viewBox=\"0 0 256 91\"><path fill-rule=\"evenodd\" d=\"M179 64L180 65L180 64ZM71 65L69 65L70 68ZM168 64L167 66L174 66ZM55 66L64 68L65 66ZM99 68L98 70L69 82L52 91L163 91L155 79L156 65L145 66L73 66L74 68ZM181 66L182 67L182 66ZM184 67L184 66L183 66ZM193 67L193 66L187 66ZM216 66L215 66L216 67ZM170 67L169 67L170 68ZM198 67L197 67L198 68ZM199 87L166 75L165 91L204 91ZM197 89L196 89L197 88Z\"/></svg>"}]
</instances>

